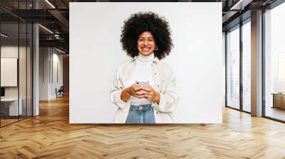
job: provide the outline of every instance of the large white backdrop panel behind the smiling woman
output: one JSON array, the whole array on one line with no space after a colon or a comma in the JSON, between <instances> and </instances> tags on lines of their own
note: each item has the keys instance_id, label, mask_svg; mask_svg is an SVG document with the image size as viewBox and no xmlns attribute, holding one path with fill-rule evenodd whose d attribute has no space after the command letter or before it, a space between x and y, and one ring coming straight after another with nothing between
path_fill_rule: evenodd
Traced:
<instances>
[{"instance_id":1,"label":"large white backdrop panel behind the smiling woman","mask_svg":"<svg viewBox=\"0 0 285 159\"><path fill-rule=\"evenodd\" d=\"M70 3L71 124L114 123L108 93L122 50L123 21L152 11L170 23L175 48L165 59L180 102L175 123L222 123L222 3Z\"/></svg>"}]
</instances>

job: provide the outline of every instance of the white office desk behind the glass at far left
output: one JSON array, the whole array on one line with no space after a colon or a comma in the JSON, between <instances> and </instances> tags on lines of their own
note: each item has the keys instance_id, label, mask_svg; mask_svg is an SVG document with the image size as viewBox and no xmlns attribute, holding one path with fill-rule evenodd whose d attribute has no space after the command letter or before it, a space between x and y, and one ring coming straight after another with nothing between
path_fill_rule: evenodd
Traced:
<instances>
[{"instance_id":1,"label":"white office desk behind the glass at far left","mask_svg":"<svg viewBox=\"0 0 285 159\"><path fill-rule=\"evenodd\" d=\"M19 109L18 109L18 98L4 98L1 99L1 113L4 116L18 116L23 114L22 103L23 99L19 98ZM19 113L19 114L18 114Z\"/></svg>"}]
</instances>

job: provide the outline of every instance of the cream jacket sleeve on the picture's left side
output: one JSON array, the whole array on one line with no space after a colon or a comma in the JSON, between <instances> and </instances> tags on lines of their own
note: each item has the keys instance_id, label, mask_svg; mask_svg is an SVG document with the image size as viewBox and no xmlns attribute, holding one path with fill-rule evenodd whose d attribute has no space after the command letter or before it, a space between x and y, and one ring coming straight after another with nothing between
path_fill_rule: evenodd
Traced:
<instances>
[{"instance_id":1,"label":"cream jacket sleeve on the picture's left side","mask_svg":"<svg viewBox=\"0 0 285 159\"><path fill-rule=\"evenodd\" d=\"M120 77L118 74L119 69L116 71L115 78L113 79L113 83L111 85L109 100L113 104L117 105L120 109L124 109L127 103L120 99L120 94L123 92L123 85L120 82Z\"/></svg>"}]
</instances>

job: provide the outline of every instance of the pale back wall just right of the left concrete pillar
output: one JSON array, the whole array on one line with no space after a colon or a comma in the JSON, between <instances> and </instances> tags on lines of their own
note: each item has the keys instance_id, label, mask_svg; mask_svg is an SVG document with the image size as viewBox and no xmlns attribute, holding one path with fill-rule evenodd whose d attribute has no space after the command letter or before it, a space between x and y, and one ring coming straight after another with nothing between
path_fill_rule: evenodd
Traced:
<instances>
[{"instance_id":1,"label":"pale back wall just right of the left concrete pillar","mask_svg":"<svg viewBox=\"0 0 285 159\"><path fill-rule=\"evenodd\" d=\"M58 75L58 80L54 75ZM63 85L63 55L54 48L40 48L39 85L40 100L55 99L56 88Z\"/></svg>"}]
</instances>

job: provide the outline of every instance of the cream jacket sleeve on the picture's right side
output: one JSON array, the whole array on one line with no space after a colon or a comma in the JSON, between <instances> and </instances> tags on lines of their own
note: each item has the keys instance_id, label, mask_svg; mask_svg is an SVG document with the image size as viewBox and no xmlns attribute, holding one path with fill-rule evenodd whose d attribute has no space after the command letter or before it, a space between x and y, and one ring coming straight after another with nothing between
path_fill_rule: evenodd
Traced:
<instances>
[{"instance_id":1,"label":"cream jacket sleeve on the picture's right side","mask_svg":"<svg viewBox=\"0 0 285 159\"><path fill-rule=\"evenodd\" d=\"M175 109L180 99L176 87L175 74L171 68L163 81L165 86L162 88L162 92L160 92L160 103L155 103L155 106L157 107L158 111L169 113Z\"/></svg>"}]
</instances>

